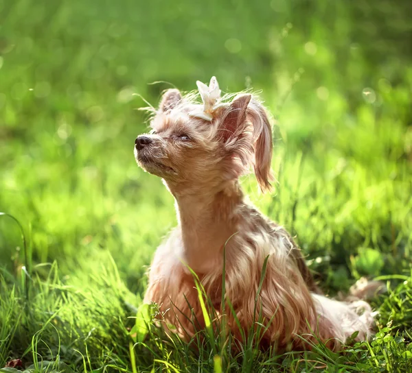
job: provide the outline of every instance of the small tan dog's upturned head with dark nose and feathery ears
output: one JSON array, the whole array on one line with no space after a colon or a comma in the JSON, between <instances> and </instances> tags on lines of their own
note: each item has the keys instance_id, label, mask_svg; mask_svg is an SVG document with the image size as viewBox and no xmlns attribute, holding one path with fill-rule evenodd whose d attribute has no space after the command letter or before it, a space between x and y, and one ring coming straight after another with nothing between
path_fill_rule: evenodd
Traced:
<instances>
[{"instance_id":1,"label":"small tan dog's upturned head with dark nose and feathery ears","mask_svg":"<svg viewBox=\"0 0 412 373\"><path fill-rule=\"evenodd\" d=\"M137 163L176 193L218 190L250 165L260 188L270 189L272 135L263 106L247 93L213 110L203 95L204 106L196 98L165 91L150 122L152 131L135 141Z\"/></svg>"}]
</instances>

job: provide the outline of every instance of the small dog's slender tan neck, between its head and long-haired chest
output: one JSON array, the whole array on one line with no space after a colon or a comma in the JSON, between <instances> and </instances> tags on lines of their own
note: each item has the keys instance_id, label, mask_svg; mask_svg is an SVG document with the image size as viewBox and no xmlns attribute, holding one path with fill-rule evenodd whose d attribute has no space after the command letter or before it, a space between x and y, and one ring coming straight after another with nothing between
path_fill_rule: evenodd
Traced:
<instances>
[{"instance_id":1,"label":"small dog's slender tan neck, between its head and long-haired chest","mask_svg":"<svg viewBox=\"0 0 412 373\"><path fill-rule=\"evenodd\" d=\"M226 241L236 233L243 194L237 181L214 193L175 195L183 240L183 261L197 273L222 261Z\"/></svg>"}]
</instances>

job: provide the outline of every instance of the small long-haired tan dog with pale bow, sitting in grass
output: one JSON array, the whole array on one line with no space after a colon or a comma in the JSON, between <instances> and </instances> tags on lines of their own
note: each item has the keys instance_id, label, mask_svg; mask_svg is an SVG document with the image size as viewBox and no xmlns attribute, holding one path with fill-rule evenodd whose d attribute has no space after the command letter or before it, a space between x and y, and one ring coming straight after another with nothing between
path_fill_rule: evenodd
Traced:
<instances>
[{"instance_id":1,"label":"small long-haired tan dog with pale bow, sitting in grass","mask_svg":"<svg viewBox=\"0 0 412 373\"><path fill-rule=\"evenodd\" d=\"M356 340L367 339L369 304L322 296L290 234L244 202L238 178L251 166L262 191L273 179L262 104L249 93L220 98L215 77L197 84L203 104L197 94L165 91L152 110L152 132L135 141L137 163L163 178L179 221L155 253L144 302L157 304L165 325L193 335L205 320L190 269L221 315L225 262L225 296L236 313L227 311L225 322L238 339L258 315L265 323L260 343L278 350L310 348L319 339L336 350L356 331Z\"/></svg>"}]
</instances>

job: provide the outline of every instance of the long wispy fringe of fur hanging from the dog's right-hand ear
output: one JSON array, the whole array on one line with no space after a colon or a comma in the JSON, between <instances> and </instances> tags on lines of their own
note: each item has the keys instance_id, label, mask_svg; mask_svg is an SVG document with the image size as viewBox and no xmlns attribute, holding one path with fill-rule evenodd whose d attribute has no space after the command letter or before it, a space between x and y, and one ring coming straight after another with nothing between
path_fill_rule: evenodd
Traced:
<instances>
[{"instance_id":1,"label":"long wispy fringe of fur hanging from the dog's right-hand ear","mask_svg":"<svg viewBox=\"0 0 412 373\"><path fill-rule=\"evenodd\" d=\"M271 123L262 104L255 98L251 99L247 107L247 117L253 125L253 139L255 141L255 175L260 189L270 191L271 181L274 180L271 169L273 141Z\"/></svg>"}]
</instances>

